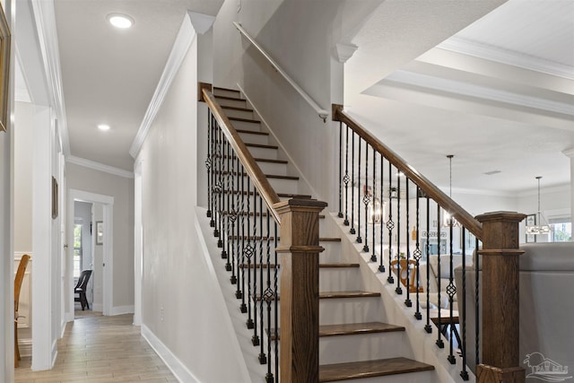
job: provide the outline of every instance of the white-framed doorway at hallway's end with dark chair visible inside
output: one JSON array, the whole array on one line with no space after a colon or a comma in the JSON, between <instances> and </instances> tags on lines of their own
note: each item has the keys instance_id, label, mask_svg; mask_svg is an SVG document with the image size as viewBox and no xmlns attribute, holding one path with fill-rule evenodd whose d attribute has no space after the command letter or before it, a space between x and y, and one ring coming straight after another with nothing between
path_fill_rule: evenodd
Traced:
<instances>
[{"instance_id":1,"label":"white-framed doorway at hallway's end with dark chair visible inside","mask_svg":"<svg viewBox=\"0 0 574 383\"><path fill-rule=\"evenodd\" d=\"M113 205L112 196L70 189L68 194L68 246L66 256L65 315L74 320L74 312L111 315L113 297ZM86 288L89 311L74 301L74 287L83 270L92 270Z\"/></svg>"}]
</instances>

